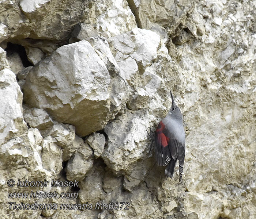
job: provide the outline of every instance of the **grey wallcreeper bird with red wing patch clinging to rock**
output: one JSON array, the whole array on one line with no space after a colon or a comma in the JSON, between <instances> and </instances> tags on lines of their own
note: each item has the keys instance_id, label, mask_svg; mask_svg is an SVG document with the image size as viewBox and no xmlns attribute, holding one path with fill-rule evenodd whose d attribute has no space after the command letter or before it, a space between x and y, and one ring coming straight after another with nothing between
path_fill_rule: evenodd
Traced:
<instances>
[{"instance_id":1,"label":"grey wallcreeper bird with red wing patch clinging to rock","mask_svg":"<svg viewBox=\"0 0 256 219\"><path fill-rule=\"evenodd\" d=\"M179 180L181 181L185 158L185 131L181 111L174 103L171 91L170 94L172 96L172 107L155 131L155 156L158 165L167 165L165 175L171 178L178 160Z\"/></svg>"}]
</instances>

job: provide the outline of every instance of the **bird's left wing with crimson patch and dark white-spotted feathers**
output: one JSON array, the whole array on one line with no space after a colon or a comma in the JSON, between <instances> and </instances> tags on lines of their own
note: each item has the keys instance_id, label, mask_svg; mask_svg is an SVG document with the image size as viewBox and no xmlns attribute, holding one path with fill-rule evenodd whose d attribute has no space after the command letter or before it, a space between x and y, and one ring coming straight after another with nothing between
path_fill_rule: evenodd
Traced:
<instances>
[{"instance_id":1,"label":"bird's left wing with crimson patch and dark white-spotted feathers","mask_svg":"<svg viewBox=\"0 0 256 219\"><path fill-rule=\"evenodd\" d=\"M172 159L171 151L168 146L170 139L163 134L164 128L163 122L160 122L155 131L155 156L160 166L166 166Z\"/></svg>"}]
</instances>

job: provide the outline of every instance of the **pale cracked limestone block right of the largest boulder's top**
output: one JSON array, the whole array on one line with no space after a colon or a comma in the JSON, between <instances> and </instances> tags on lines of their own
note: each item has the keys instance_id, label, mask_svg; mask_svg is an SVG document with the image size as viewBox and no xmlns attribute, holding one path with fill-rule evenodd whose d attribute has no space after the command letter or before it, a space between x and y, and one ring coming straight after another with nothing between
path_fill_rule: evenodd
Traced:
<instances>
[{"instance_id":1,"label":"pale cracked limestone block right of the largest boulder's top","mask_svg":"<svg viewBox=\"0 0 256 219\"><path fill-rule=\"evenodd\" d=\"M109 38L108 43L120 67L121 76L129 82L138 70L143 72L154 60L160 37L152 31L135 28Z\"/></svg>"}]
</instances>

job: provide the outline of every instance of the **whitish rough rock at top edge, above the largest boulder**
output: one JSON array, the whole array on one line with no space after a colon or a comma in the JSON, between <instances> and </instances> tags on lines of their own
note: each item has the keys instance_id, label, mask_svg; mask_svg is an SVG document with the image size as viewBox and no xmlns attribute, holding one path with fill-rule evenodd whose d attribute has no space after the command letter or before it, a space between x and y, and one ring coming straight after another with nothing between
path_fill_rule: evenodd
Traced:
<instances>
[{"instance_id":1,"label":"whitish rough rock at top edge, above the largest boulder","mask_svg":"<svg viewBox=\"0 0 256 219\"><path fill-rule=\"evenodd\" d=\"M135 17L125 0L89 1L89 18L76 26L76 39L114 37L136 27Z\"/></svg>"}]
</instances>

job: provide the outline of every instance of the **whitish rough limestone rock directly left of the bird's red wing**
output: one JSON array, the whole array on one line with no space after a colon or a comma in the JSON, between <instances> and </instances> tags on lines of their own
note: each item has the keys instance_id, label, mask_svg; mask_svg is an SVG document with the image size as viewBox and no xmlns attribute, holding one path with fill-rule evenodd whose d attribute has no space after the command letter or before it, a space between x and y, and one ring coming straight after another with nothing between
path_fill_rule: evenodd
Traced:
<instances>
[{"instance_id":1,"label":"whitish rough limestone rock directly left of the bird's red wing","mask_svg":"<svg viewBox=\"0 0 256 219\"><path fill-rule=\"evenodd\" d=\"M143 130L154 120L153 115L143 111L128 112L105 127L109 141L101 157L114 173L130 173L130 166L143 157L147 150L147 132Z\"/></svg>"}]
</instances>

